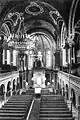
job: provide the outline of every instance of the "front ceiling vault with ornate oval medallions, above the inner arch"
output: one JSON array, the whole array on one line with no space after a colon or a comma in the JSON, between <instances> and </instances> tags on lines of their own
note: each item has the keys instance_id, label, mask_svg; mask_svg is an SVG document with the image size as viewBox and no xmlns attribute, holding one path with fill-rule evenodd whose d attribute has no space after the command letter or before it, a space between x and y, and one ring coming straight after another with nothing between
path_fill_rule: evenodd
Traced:
<instances>
[{"instance_id":1,"label":"front ceiling vault with ornate oval medallions, above the inner arch","mask_svg":"<svg viewBox=\"0 0 80 120\"><path fill-rule=\"evenodd\" d=\"M63 19L63 17L60 15L56 7L44 1L36 1L36 2L24 1L23 3L21 1L21 3L20 2L19 3L14 2L14 4L12 3L13 2L10 2L8 4L8 9L6 10L6 12L4 12L3 19L5 20L9 19L9 16L16 12L23 13L26 24L28 23L28 21L33 21L33 20L35 21L38 20L38 22L39 20L47 21L47 23L54 26L56 31L58 31L58 34L60 34L58 23L60 19ZM13 5L12 8L9 7L11 4ZM14 16L15 18L11 17L11 19L15 20L16 15Z\"/></svg>"}]
</instances>

